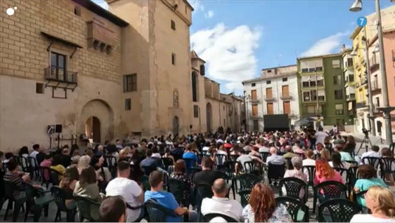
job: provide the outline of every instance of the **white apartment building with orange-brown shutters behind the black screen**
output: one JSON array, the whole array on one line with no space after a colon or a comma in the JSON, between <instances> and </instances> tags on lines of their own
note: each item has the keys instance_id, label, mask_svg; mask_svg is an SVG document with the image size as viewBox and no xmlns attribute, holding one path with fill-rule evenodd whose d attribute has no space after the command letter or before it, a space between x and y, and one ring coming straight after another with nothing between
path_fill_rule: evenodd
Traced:
<instances>
[{"instance_id":1,"label":"white apartment building with orange-brown shutters behind the black screen","mask_svg":"<svg viewBox=\"0 0 395 223\"><path fill-rule=\"evenodd\" d=\"M288 114L290 125L299 118L296 65L262 69L259 78L242 84L247 130L263 131L266 114Z\"/></svg>"}]
</instances>

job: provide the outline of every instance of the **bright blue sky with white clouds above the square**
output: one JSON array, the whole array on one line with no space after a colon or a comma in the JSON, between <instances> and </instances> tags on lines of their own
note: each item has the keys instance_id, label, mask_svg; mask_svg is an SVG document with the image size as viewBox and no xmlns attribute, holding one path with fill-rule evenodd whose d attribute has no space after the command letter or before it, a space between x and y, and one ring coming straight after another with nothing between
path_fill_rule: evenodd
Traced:
<instances>
[{"instance_id":1,"label":"bright blue sky with white clouds above the square","mask_svg":"<svg viewBox=\"0 0 395 223\"><path fill-rule=\"evenodd\" d=\"M191 48L207 62L207 76L221 83L221 92L239 95L241 81L260 76L262 68L351 46L357 18L375 12L373 0L364 0L358 13L349 11L354 0L188 1L195 8ZM393 4L382 0L381 8Z\"/></svg>"}]
</instances>

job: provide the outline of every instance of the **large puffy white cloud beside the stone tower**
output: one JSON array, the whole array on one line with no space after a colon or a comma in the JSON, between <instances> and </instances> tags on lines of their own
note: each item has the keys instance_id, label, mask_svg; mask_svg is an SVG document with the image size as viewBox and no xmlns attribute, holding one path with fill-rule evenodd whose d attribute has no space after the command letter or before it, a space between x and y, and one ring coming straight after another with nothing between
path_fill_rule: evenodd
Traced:
<instances>
[{"instance_id":1,"label":"large puffy white cloud beside the stone tower","mask_svg":"<svg viewBox=\"0 0 395 223\"><path fill-rule=\"evenodd\" d=\"M202 29L190 36L197 55L205 60L207 76L225 83L228 91L242 92L242 81L254 78L261 29L240 25L233 29L223 23Z\"/></svg>"}]
</instances>

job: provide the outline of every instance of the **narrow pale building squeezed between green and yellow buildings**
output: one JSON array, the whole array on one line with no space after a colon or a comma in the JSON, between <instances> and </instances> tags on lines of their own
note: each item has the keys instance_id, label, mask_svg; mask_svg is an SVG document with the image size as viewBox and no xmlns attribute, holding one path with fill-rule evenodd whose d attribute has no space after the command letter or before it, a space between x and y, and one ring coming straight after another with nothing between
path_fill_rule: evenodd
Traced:
<instances>
[{"instance_id":1,"label":"narrow pale building squeezed between green and yellow buildings","mask_svg":"<svg viewBox=\"0 0 395 223\"><path fill-rule=\"evenodd\" d=\"M352 49L342 48L342 68L344 76L344 89L346 93L347 101L347 115L348 119L345 125L354 125L354 119L356 118L356 89L355 89L355 79L354 79L354 66L353 58L351 56ZM353 130L353 129L351 129Z\"/></svg>"}]
</instances>

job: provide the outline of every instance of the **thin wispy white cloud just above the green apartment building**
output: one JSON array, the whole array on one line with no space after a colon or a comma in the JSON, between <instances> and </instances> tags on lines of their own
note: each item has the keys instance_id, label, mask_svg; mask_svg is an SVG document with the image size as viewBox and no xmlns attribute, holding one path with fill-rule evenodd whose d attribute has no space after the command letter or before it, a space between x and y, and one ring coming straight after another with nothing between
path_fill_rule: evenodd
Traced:
<instances>
[{"instance_id":1,"label":"thin wispy white cloud just above the green apartment building","mask_svg":"<svg viewBox=\"0 0 395 223\"><path fill-rule=\"evenodd\" d=\"M342 38L347 36L347 32L338 32L332 36L318 40L309 50L301 54L302 57L311 57L315 55L325 55L339 51L342 46Z\"/></svg>"}]
</instances>

